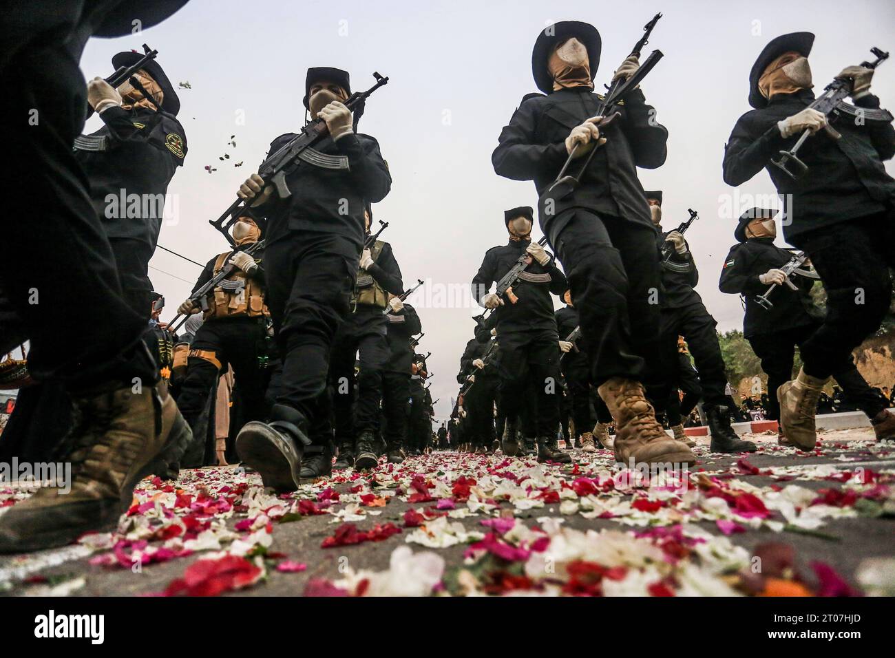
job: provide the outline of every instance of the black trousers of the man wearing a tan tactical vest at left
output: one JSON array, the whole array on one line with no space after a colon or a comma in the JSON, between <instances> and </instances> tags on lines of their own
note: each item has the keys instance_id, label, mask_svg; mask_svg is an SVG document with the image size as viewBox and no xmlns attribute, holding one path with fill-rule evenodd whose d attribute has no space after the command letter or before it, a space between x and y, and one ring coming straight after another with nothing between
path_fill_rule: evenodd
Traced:
<instances>
[{"instance_id":1,"label":"black trousers of the man wearing a tan tactical vest at left","mask_svg":"<svg viewBox=\"0 0 895 658\"><path fill-rule=\"evenodd\" d=\"M200 356L191 356L187 361L177 406L191 429L228 364L233 366L234 380L239 382L243 423L267 417L265 372L259 362L266 355L264 331L263 318L227 318L206 320L196 332L191 349L213 352L220 367Z\"/></svg>"}]
</instances>

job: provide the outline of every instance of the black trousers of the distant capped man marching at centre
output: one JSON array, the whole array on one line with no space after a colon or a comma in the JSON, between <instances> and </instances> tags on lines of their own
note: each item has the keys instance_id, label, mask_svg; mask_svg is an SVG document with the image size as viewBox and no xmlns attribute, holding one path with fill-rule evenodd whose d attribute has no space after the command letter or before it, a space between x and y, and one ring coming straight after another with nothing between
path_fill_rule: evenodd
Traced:
<instances>
[{"instance_id":1,"label":"black trousers of the distant capped man marching at centre","mask_svg":"<svg viewBox=\"0 0 895 658\"><path fill-rule=\"evenodd\" d=\"M500 336L498 357L500 406L507 418L522 417L532 406L524 404L526 388L537 400L531 423L537 436L556 437L559 425L559 346L555 331L514 332ZM530 434L525 434L530 436Z\"/></svg>"}]
</instances>

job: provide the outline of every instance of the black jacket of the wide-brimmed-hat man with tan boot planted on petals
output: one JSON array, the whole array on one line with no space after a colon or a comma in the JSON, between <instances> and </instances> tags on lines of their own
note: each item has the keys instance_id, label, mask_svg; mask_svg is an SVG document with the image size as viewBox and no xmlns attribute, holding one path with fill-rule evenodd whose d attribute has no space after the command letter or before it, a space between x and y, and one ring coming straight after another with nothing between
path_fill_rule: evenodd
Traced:
<instances>
[{"instance_id":1,"label":"black jacket of the wide-brimmed-hat man with tan boot planted on petals","mask_svg":"<svg viewBox=\"0 0 895 658\"><path fill-rule=\"evenodd\" d=\"M586 87L523 98L509 125L500 132L498 147L491 155L494 171L517 181L533 180L538 193L544 192L566 161L568 133L596 114L599 98ZM635 167L661 167L667 155L668 131L655 122L655 111L646 104L641 90L629 93L619 110L621 115L603 129L607 142L593 155L582 183L556 202L550 217L541 213L541 228L550 236L550 244L555 244L562 228L548 229L550 218L570 208L591 209L652 226ZM568 173L576 175L583 162L575 160Z\"/></svg>"}]
</instances>

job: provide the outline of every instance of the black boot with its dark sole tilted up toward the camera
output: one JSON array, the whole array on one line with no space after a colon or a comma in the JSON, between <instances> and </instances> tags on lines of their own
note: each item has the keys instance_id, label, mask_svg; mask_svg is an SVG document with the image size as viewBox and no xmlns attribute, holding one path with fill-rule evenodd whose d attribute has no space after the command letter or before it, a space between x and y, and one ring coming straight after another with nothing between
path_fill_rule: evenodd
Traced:
<instances>
[{"instance_id":1,"label":"black boot with its dark sole tilted up toward the camera","mask_svg":"<svg viewBox=\"0 0 895 658\"><path fill-rule=\"evenodd\" d=\"M298 409L274 405L270 423L245 423L236 436L236 453L277 493L295 491L301 484L302 454L311 445L308 420Z\"/></svg>"}]
</instances>

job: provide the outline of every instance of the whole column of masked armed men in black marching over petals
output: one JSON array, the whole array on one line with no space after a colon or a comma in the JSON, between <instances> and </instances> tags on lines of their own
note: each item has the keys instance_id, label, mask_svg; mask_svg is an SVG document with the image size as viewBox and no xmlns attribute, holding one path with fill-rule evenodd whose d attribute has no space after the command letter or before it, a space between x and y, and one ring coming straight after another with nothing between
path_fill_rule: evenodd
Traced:
<instances>
[{"instance_id":1,"label":"whole column of masked armed men in black marching over petals","mask_svg":"<svg viewBox=\"0 0 895 658\"><path fill-rule=\"evenodd\" d=\"M0 551L114 526L147 475L175 480L181 468L226 459L277 493L433 448L555 464L571 462L573 448L603 448L626 466L692 466L683 419L697 405L713 452L756 449L731 427L716 322L695 292L686 231L698 214L668 230L663 192L644 191L637 175L667 156L668 130L640 88L661 57L641 62L661 14L606 94L594 84L595 27L558 22L536 38L540 91L499 132L492 164L533 181L538 208L507 209L506 244L474 273L484 312L460 359L451 420L433 432L424 328L408 303L422 280L407 285L400 250L380 237L388 222L374 207L392 180L379 142L359 125L388 78L376 73L357 92L345 71L308 69L302 130L270 142L211 222L232 248L209 254L177 318L161 324L164 298L148 276L161 207L132 211L128 199L164 198L183 166L180 103L149 47L114 56L115 73L84 90L84 43L128 33L130 13L122 0L93 3L103 11L80 4L60 7L52 25L3 19L13 47L0 74L17 91L4 96L3 125L14 126L7 143L24 160L10 173L10 203L13 217L34 219L8 223L8 238L29 249L0 260L0 351L30 341L29 382L0 455L73 467L71 492L42 487L0 516ZM153 15L143 26L182 4L144 9ZM42 39L50 29L64 38ZM895 129L870 91L888 55L874 49L874 62L844 69L815 98L813 41L807 32L775 38L749 73L753 109L730 136L724 179L738 185L767 169L784 202L739 218L719 284L745 302L744 333L768 376L780 443L803 450L814 449L831 378L878 440L895 438L888 401L851 356L891 303L895 180L882 162L895 155ZM24 127L35 107L39 122ZM103 123L90 135L81 134L85 110ZM774 244L778 219L800 251ZM825 315L810 295L818 278ZM565 302L558 311L554 297ZM103 321L90 341L72 343L82 317ZM796 347L803 365L792 379Z\"/></svg>"}]
</instances>

